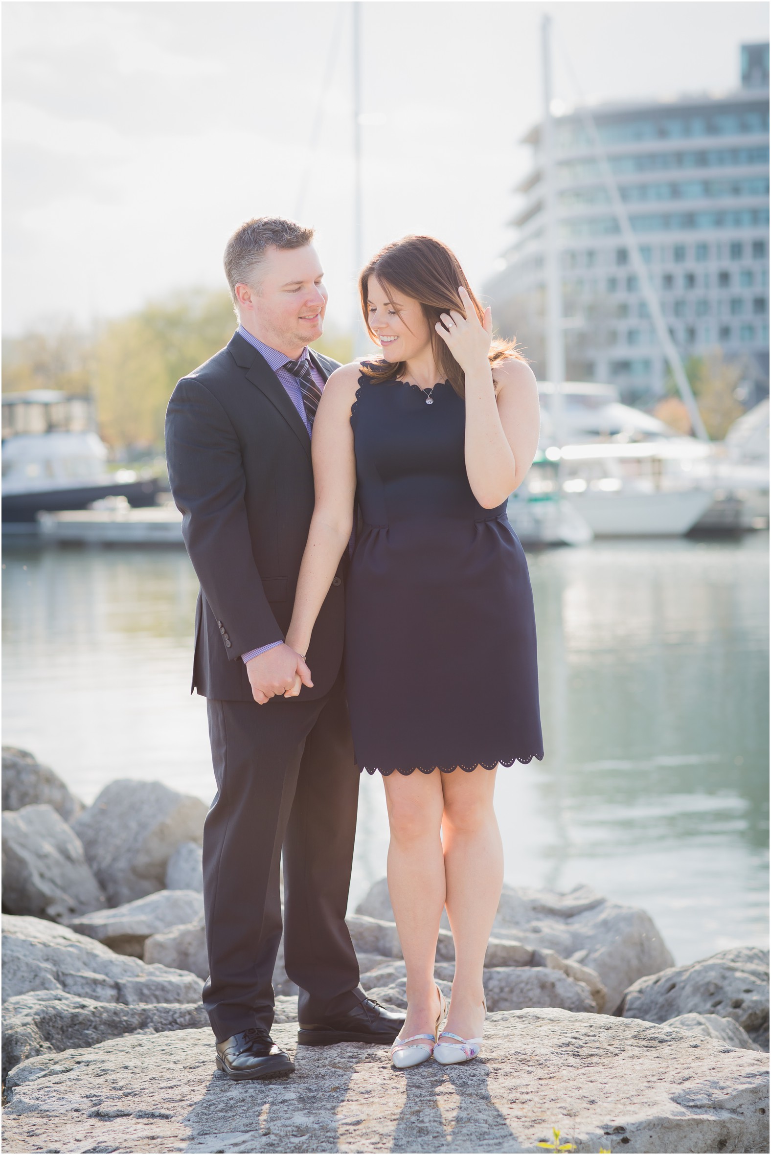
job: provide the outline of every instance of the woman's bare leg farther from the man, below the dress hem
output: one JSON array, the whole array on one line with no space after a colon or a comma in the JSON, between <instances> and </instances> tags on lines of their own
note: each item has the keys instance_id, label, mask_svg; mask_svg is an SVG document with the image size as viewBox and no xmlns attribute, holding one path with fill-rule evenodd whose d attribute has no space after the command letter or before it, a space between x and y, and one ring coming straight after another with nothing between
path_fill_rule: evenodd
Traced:
<instances>
[{"instance_id":1,"label":"woman's bare leg farther from the man, below the dress hem","mask_svg":"<svg viewBox=\"0 0 771 1155\"><path fill-rule=\"evenodd\" d=\"M482 967L503 886L503 847L493 810L495 770L442 775L447 917L455 940L455 978L447 1029L481 1035Z\"/></svg>"}]
</instances>

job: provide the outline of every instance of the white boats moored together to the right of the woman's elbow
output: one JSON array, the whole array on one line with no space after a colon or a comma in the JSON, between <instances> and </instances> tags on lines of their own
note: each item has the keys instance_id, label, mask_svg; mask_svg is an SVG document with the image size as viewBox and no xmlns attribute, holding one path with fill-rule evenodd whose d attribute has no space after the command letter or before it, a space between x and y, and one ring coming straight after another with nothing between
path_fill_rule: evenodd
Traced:
<instances>
[{"instance_id":1,"label":"white boats moored together to the right of the woman's elbow","mask_svg":"<svg viewBox=\"0 0 771 1155\"><path fill-rule=\"evenodd\" d=\"M539 382L539 452L508 502L527 545L769 527L769 403L716 442L678 435L612 385Z\"/></svg>"}]
</instances>

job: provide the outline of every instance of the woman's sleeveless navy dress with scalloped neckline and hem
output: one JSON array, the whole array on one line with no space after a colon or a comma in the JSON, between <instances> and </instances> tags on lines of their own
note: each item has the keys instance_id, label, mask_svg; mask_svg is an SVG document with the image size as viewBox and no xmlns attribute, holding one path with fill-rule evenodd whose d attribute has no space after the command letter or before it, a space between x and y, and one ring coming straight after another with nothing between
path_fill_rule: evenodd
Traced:
<instances>
[{"instance_id":1,"label":"woman's sleeveless navy dress with scalloped neckline and hem","mask_svg":"<svg viewBox=\"0 0 771 1155\"><path fill-rule=\"evenodd\" d=\"M431 401L431 404L427 404ZM465 402L359 379L351 410L364 521L346 582L357 762L446 773L544 757L527 562L469 485Z\"/></svg>"}]
</instances>

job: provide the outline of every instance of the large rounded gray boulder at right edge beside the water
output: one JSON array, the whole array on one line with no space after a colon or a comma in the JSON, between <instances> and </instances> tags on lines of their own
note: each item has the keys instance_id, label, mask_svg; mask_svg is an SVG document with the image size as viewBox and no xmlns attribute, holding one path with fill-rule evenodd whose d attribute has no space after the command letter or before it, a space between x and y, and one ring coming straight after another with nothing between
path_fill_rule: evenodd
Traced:
<instances>
[{"instance_id":1,"label":"large rounded gray boulder at right edge beside the water","mask_svg":"<svg viewBox=\"0 0 771 1155\"><path fill-rule=\"evenodd\" d=\"M634 983L617 1014L666 1022L679 1015L733 1019L751 1040L769 1048L769 952L733 947L687 967L669 967Z\"/></svg>"}]
</instances>

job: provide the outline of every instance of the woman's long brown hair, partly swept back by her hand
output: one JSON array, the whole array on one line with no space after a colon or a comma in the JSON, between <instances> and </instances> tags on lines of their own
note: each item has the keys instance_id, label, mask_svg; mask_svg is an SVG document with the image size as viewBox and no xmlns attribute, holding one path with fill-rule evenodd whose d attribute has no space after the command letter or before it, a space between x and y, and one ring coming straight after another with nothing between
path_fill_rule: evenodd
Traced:
<instances>
[{"instance_id":1,"label":"woman's long brown hair, partly swept back by her hand","mask_svg":"<svg viewBox=\"0 0 771 1155\"><path fill-rule=\"evenodd\" d=\"M402 240L391 241L373 256L359 276L359 296L361 297L364 323L372 340L376 342L377 338L369 328L369 310L367 307L370 277L376 277L391 296L404 293L405 297L412 297L413 300L420 301L424 316L428 322L434 360L443 374L443 379L450 382L458 396L464 397L465 374L440 337L435 326L440 315L449 313L451 308L465 316L465 310L458 295L458 285L463 285L471 297L480 321L485 311L472 292L455 253L435 237L409 236L403 237ZM509 357L524 360L514 342L494 340L489 349L491 366L495 368L497 364ZM404 371L405 362L388 362L384 358L361 364L361 372L375 382L391 381L395 377L402 377Z\"/></svg>"}]
</instances>

